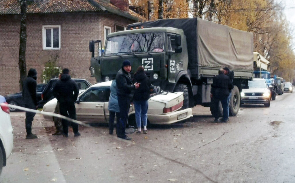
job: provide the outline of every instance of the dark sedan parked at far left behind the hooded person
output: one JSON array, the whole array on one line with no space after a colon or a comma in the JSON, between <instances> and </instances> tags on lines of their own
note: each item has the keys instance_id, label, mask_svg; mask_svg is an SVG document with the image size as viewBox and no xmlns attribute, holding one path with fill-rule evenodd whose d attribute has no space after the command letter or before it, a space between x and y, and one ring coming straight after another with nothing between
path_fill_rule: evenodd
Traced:
<instances>
[{"instance_id":1,"label":"dark sedan parked at far left behind the hooded person","mask_svg":"<svg viewBox=\"0 0 295 183\"><path fill-rule=\"evenodd\" d=\"M41 100L41 93L46 84L37 84L37 101ZM22 91L8 94L5 96L6 102L11 105L18 105L24 107L24 99L22 98ZM10 108L11 112L17 111L16 108Z\"/></svg>"}]
</instances>

